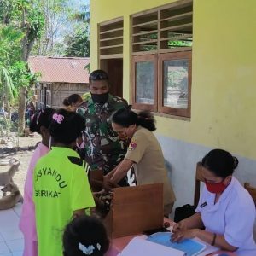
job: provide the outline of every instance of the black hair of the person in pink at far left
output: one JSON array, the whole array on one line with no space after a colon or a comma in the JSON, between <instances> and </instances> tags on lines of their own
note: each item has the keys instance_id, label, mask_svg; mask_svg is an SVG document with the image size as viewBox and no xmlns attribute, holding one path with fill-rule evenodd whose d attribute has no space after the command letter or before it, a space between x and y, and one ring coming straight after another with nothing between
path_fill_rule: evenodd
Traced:
<instances>
[{"instance_id":1,"label":"black hair of the person in pink at far left","mask_svg":"<svg viewBox=\"0 0 256 256\"><path fill-rule=\"evenodd\" d=\"M48 129L54 113L55 109L53 108L39 109L36 113L32 115L29 130L32 132L38 132L40 134L41 126L44 126Z\"/></svg>"}]
</instances>

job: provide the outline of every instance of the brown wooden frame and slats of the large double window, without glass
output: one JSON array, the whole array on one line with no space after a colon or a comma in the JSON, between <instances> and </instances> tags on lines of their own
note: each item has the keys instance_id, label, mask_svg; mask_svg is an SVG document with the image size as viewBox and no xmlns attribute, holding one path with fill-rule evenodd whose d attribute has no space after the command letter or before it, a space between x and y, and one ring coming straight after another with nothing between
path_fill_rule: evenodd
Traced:
<instances>
[{"instance_id":1,"label":"brown wooden frame and slats of the large double window, without glass","mask_svg":"<svg viewBox=\"0 0 256 256\"><path fill-rule=\"evenodd\" d=\"M131 103L137 110L149 110L156 114L167 114L174 119L191 118L191 88L192 88L192 47L193 43L177 44L170 47L166 42L172 41L191 41L193 42L193 2L194 0L179 0L174 3L167 3L154 9L144 10L131 15ZM157 13L157 18L155 17ZM146 20L143 20L146 18ZM154 33L154 26L157 23L157 38L148 40L136 38L144 34ZM167 23L167 24L166 24ZM151 26L152 27L151 27ZM148 30L146 30L148 26ZM141 32L138 32L141 28ZM143 31L144 30L144 31ZM173 32L176 35L169 35ZM167 35L166 35L167 33ZM147 38L147 37L146 37ZM139 45L156 44L156 49L137 49ZM176 44L173 44L176 45ZM154 55L155 73L154 84L154 105L136 102L136 62L150 60ZM149 58L149 59L148 59ZM164 61L189 60L188 69L188 108L172 108L164 106ZM155 104L156 103L156 104Z\"/></svg>"}]
</instances>

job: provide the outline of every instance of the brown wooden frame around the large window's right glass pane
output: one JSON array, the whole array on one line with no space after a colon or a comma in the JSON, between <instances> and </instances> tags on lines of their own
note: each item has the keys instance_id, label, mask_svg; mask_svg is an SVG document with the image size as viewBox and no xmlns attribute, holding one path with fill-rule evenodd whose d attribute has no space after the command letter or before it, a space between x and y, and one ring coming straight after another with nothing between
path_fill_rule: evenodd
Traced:
<instances>
[{"instance_id":1,"label":"brown wooden frame around the large window's right glass pane","mask_svg":"<svg viewBox=\"0 0 256 256\"><path fill-rule=\"evenodd\" d=\"M164 61L175 61L175 60L189 60L188 69L188 108L172 108L164 106ZM160 54L158 56L158 112L167 113L175 116L190 117L191 113L191 82L192 82L192 52L172 52L166 54Z\"/></svg>"}]
</instances>

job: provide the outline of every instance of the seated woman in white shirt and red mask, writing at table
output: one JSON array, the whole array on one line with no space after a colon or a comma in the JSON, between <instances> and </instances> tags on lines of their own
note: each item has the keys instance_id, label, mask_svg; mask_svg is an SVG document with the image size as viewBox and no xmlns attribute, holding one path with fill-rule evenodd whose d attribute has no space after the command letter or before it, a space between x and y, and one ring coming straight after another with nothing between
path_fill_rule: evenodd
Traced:
<instances>
[{"instance_id":1,"label":"seated woman in white shirt and red mask, writing at table","mask_svg":"<svg viewBox=\"0 0 256 256\"><path fill-rule=\"evenodd\" d=\"M206 185L196 213L173 227L172 241L198 237L226 251L256 252L255 205L251 195L232 176L237 165L236 157L222 149L213 149L202 159L201 175Z\"/></svg>"}]
</instances>

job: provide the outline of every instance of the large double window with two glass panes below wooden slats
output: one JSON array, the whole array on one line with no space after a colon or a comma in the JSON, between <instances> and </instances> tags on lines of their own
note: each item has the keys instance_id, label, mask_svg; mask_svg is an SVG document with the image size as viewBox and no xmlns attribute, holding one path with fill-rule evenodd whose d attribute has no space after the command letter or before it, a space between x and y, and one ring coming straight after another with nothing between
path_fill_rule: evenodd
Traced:
<instances>
[{"instance_id":1,"label":"large double window with two glass panes below wooden slats","mask_svg":"<svg viewBox=\"0 0 256 256\"><path fill-rule=\"evenodd\" d=\"M192 0L131 17L132 104L190 117Z\"/></svg>"}]
</instances>

